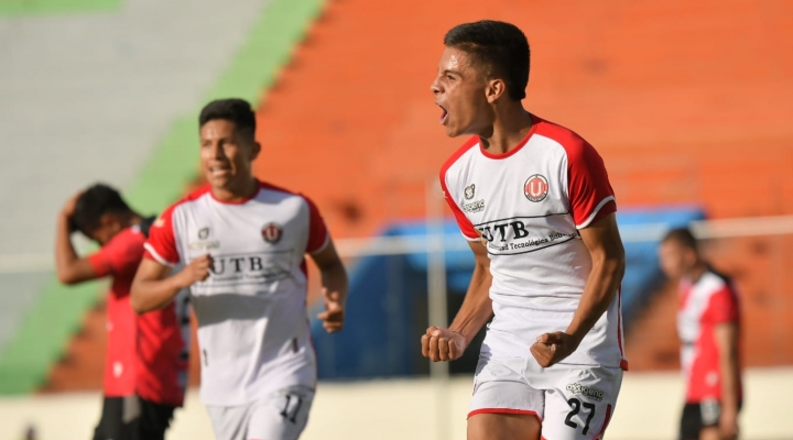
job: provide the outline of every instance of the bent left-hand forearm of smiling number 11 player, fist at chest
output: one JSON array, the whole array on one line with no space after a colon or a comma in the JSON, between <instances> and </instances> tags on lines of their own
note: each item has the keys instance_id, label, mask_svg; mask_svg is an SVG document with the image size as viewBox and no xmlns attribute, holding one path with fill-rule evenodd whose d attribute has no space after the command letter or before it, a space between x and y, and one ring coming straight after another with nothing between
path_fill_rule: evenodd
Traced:
<instances>
[{"instance_id":1,"label":"bent left-hand forearm of smiling number 11 player, fist at chest","mask_svg":"<svg viewBox=\"0 0 793 440\"><path fill-rule=\"evenodd\" d=\"M143 258L130 290L130 304L138 314L160 310L167 306L181 289L209 276L213 260L209 254L202 255L171 275L171 267L150 258Z\"/></svg>"}]
</instances>

